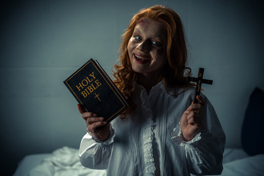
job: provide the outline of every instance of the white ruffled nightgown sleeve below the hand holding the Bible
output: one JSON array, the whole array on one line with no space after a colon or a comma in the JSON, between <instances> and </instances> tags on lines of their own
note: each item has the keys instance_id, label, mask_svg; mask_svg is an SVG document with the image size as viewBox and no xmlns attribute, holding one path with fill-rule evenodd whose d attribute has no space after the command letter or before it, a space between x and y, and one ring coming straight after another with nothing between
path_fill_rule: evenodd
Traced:
<instances>
[{"instance_id":1,"label":"white ruffled nightgown sleeve below the hand holding the Bible","mask_svg":"<svg viewBox=\"0 0 264 176\"><path fill-rule=\"evenodd\" d=\"M80 162L90 169L107 169L115 130L110 126L110 136L106 141L100 141L91 133L87 132L81 141L79 149Z\"/></svg>"}]
</instances>

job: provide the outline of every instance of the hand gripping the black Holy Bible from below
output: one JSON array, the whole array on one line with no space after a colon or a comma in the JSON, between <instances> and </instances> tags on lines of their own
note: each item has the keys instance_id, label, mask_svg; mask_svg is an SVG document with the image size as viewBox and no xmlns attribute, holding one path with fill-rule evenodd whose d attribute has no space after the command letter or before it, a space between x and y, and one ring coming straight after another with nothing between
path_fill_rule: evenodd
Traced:
<instances>
[{"instance_id":1,"label":"hand gripping the black Holy Bible from below","mask_svg":"<svg viewBox=\"0 0 264 176\"><path fill-rule=\"evenodd\" d=\"M88 131L100 141L106 141L110 136L110 123L103 121L103 117L97 117L97 114L93 112L85 112L80 104L77 107L85 120Z\"/></svg>"}]
</instances>

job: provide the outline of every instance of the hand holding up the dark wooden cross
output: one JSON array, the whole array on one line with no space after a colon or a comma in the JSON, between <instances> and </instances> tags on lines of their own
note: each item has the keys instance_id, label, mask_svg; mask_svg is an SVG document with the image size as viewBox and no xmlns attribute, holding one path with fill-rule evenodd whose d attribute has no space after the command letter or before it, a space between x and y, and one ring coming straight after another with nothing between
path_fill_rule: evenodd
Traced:
<instances>
[{"instance_id":1,"label":"hand holding up the dark wooden cross","mask_svg":"<svg viewBox=\"0 0 264 176\"><path fill-rule=\"evenodd\" d=\"M200 102L196 104L192 102L181 117L180 126L185 141L191 141L202 126L202 108L206 102L203 97L199 95L197 95L196 98Z\"/></svg>"}]
</instances>

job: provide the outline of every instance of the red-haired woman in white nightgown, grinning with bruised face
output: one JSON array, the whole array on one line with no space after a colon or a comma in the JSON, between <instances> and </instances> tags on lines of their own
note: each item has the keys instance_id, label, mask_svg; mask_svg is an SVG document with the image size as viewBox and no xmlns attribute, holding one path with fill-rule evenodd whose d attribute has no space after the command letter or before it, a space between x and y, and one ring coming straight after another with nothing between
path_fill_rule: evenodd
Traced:
<instances>
[{"instance_id":1,"label":"red-haired woman in white nightgown, grinning with bruised face","mask_svg":"<svg viewBox=\"0 0 264 176\"><path fill-rule=\"evenodd\" d=\"M78 105L88 128L81 163L107 169L109 176L220 174L225 134L204 95L192 103L177 13L159 5L141 10L124 33L120 52L115 83L131 108L111 125Z\"/></svg>"}]
</instances>

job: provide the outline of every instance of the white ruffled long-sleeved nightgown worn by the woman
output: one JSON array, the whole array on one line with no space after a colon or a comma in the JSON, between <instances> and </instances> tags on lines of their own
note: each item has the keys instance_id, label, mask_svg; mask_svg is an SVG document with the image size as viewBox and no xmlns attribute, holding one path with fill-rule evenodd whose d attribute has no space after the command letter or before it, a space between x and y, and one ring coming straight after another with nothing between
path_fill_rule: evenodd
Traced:
<instances>
[{"instance_id":1,"label":"white ruffled long-sleeved nightgown worn by the woman","mask_svg":"<svg viewBox=\"0 0 264 176\"><path fill-rule=\"evenodd\" d=\"M170 88L170 94L183 88ZM89 133L80 145L83 166L107 169L108 176L189 176L222 172L225 134L216 112L205 97L203 123L198 134L183 141L180 119L192 104L194 88L171 96L161 82L149 94L136 85L136 110L111 122L110 137L101 142Z\"/></svg>"}]
</instances>

